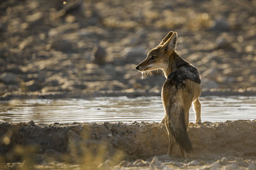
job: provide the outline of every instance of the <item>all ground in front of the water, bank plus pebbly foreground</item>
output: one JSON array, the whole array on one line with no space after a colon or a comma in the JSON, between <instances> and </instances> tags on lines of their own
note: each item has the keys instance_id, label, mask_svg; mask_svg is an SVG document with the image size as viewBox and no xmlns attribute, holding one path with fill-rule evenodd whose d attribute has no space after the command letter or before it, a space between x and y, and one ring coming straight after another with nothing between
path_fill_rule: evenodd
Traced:
<instances>
[{"instance_id":1,"label":"all ground in front of the water, bank plus pebbly foreground","mask_svg":"<svg viewBox=\"0 0 256 170\"><path fill-rule=\"evenodd\" d=\"M2 166L77 169L255 169L256 120L189 124L193 152L166 155L163 124L0 124ZM17 162L25 163L17 163ZM16 163L13 163L16 162ZM27 162L27 164L26 164Z\"/></svg>"}]
</instances>

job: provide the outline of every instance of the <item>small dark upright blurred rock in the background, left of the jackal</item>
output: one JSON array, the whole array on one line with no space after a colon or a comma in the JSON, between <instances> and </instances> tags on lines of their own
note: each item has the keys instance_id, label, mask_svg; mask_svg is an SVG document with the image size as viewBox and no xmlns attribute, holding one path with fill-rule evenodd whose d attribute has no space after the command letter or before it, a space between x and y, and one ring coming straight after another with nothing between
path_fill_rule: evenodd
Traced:
<instances>
[{"instance_id":1,"label":"small dark upright blurred rock in the background, left of the jackal","mask_svg":"<svg viewBox=\"0 0 256 170\"><path fill-rule=\"evenodd\" d=\"M95 64L103 65L106 62L106 50L98 45L92 49L91 60Z\"/></svg>"}]
</instances>

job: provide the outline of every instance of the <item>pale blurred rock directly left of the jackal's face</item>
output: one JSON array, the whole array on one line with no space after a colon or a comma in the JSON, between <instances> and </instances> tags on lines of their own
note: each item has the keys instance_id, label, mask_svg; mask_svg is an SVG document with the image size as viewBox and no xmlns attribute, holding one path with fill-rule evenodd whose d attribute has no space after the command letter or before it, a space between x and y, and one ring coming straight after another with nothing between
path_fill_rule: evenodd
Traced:
<instances>
[{"instance_id":1,"label":"pale blurred rock directly left of the jackal's face","mask_svg":"<svg viewBox=\"0 0 256 170\"><path fill-rule=\"evenodd\" d=\"M140 62L145 59L145 50L141 47L127 47L122 52L122 57L126 62Z\"/></svg>"}]
</instances>

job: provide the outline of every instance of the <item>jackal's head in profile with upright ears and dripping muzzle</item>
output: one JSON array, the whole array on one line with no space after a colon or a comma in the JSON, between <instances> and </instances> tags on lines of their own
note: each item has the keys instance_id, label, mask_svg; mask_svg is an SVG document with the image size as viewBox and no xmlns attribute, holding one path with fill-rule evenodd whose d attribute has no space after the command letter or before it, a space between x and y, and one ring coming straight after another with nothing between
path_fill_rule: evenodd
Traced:
<instances>
[{"instance_id":1,"label":"jackal's head in profile with upright ears and dripping muzzle","mask_svg":"<svg viewBox=\"0 0 256 170\"><path fill-rule=\"evenodd\" d=\"M143 60L135 68L138 71L153 71L156 69L166 69L170 63L170 55L174 52L177 44L177 32L169 32L159 45L148 52L145 60Z\"/></svg>"}]
</instances>

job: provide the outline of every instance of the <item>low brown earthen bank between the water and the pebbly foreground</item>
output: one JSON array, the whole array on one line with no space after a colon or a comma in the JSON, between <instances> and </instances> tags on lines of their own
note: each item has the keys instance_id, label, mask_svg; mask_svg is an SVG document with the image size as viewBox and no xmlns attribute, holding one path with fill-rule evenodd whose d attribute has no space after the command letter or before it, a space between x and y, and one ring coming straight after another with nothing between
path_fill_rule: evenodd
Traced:
<instances>
[{"instance_id":1,"label":"low brown earthen bank between the water and the pebbly foreground","mask_svg":"<svg viewBox=\"0 0 256 170\"><path fill-rule=\"evenodd\" d=\"M189 124L193 152L188 159L211 160L216 157L256 157L256 120L224 123ZM36 162L54 157L60 162L74 162L87 153L104 148L104 159L122 153L122 159L148 159L164 155L168 148L163 124L0 124L1 162L22 160L20 148L31 152ZM32 148L33 149L32 149ZM18 151L17 151L18 150ZM175 145L173 159L180 153Z\"/></svg>"}]
</instances>

